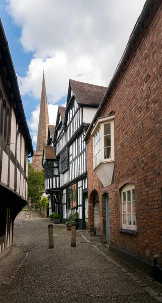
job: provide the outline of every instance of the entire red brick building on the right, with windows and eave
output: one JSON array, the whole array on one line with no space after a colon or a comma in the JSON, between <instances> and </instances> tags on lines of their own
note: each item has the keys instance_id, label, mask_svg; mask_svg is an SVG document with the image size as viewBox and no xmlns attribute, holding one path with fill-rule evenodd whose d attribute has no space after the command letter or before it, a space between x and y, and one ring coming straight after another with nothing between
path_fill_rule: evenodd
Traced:
<instances>
[{"instance_id":1,"label":"entire red brick building on the right, with windows and eave","mask_svg":"<svg viewBox=\"0 0 162 303\"><path fill-rule=\"evenodd\" d=\"M161 23L147 0L85 136L89 231L147 273L162 265Z\"/></svg>"}]
</instances>

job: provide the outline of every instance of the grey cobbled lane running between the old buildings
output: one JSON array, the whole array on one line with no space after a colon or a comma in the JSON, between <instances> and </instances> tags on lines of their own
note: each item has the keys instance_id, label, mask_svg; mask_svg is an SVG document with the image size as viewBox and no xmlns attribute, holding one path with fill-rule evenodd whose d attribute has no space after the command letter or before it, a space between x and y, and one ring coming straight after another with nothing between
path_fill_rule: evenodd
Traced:
<instances>
[{"instance_id":1,"label":"grey cobbled lane running between the old buildings","mask_svg":"<svg viewBox=\"0 0 162 303\"><path fill-rule=\"evenodd\" d=\"M0 260L0 303L157 303L162 285L130 266L87 231L53 225L54 248L48 248L49 219L32 212L14 229L12 252Z\"/></svg>"}]
</instances>

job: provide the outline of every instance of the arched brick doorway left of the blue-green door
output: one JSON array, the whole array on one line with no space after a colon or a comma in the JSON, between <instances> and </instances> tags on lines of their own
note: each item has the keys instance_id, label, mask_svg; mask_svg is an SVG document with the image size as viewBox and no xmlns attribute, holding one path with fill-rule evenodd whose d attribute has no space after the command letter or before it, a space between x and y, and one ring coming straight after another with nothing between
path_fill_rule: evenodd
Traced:
<instances>
[{"instance_id":1,"label":"arched brick doorway left of the blue-green door","mask_svg":"<svg viewBox=\"0 0 162 303\"><path fill-rule=\"evenodd\" d=\"M94 189L89 197L89 232L91 235L100 235L100 215L98 192Z\"/></svg>"}]
</instances>

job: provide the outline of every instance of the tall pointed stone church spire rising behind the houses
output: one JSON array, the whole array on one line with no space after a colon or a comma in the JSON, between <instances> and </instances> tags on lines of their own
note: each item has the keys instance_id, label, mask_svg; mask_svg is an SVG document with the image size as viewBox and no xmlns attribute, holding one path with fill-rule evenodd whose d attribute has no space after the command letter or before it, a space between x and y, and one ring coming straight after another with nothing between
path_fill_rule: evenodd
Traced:
<instances>
[{"instance_id":1,"label":"tall pointed stone church spire rising behind the houses","mask_svg":"<svg viewBox=\"0 0 162 303\"><path fill-rule=\"evenodd\" d=\"M48 118L47 97L46 97L45 79L44 79L44 71L43 71L36 151L43 150L43 141L47 140L48 126L49 126L49 118Z\"/></svg>"}]
</instances>

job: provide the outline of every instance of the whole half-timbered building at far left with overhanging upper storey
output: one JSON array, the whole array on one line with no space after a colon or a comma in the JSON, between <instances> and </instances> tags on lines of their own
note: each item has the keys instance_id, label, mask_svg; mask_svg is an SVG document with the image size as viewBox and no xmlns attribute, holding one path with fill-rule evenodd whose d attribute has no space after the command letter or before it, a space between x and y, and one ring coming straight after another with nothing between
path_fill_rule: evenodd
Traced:
<instances>
[{"instance_id":1,"label":"whole half-timbered building at far left with overhanging upper storey","mask_svg":"<svg viewBox=\"0 0 162 303\"><path fill-rule=\"evenodd\" d=\"M13 223L27 203L31 137L0 20L0 258L12 247Z\"/></svg>"}]
</instances>

